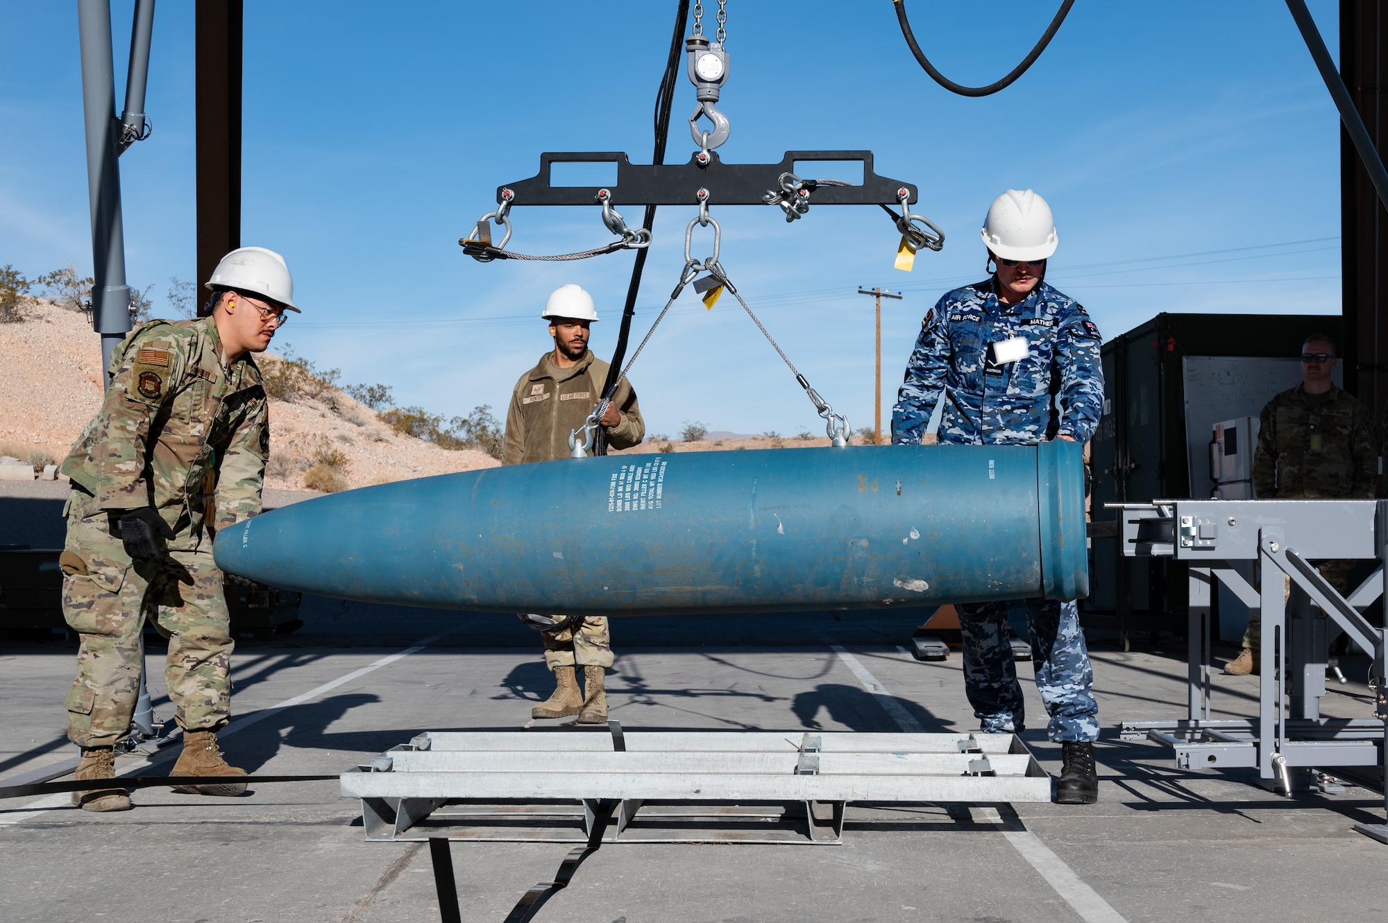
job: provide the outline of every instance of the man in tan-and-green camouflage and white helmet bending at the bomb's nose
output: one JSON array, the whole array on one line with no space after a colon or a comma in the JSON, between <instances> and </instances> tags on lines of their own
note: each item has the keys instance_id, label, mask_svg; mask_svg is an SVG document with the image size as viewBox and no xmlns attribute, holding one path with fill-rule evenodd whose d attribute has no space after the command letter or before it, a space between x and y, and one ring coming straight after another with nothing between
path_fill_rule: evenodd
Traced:
<instances>
[{"instance_id":1,"label":"man in tan-and-green camouflage and white helmet bending at the bomb's nose","mask_svg":"<svg viewBox=\"0 0 1388 923\"><path fill-rule=\"evenodd\" d=\"M246 284L230 284L247 276ZM230 715L233 642L212 542L219 529L260 513L269 421L250 353L264 352L283 312L298 309L283 259L257 247L228 254L214 285L210 316L151 320L130 331L111 356L101 410L62 463L72 481L62 613L81 638L65 705L68 737L82 748L79 780L115 775L112 748L135 712L146 619L169 642L164 675L183 729L171 775L246 775L226 765L217 746ZM243 783L175 789L244 790ZM119 787L74 793L74 804L130 808Z\"/></svg>"}]
</instances>

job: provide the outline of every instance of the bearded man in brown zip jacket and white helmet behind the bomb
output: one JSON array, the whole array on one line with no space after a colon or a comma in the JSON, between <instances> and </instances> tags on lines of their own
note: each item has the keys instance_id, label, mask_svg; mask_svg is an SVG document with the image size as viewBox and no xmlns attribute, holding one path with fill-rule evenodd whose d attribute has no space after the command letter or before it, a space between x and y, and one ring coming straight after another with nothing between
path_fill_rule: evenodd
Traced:
<instances>
[{"instance_id":1,"label":"bearded man in brown zip jacket and white helmet behind the bomb","mask_svg":"<svg viewBox=\"0 0 1388 923\"><path fill-rule=\"evenodd\" d=\"M608 363L589 351L589 324L598 319L593 297L575 284L561 285L540 315L550 324L554 349L540 356L534 369L520 376L507 410L504 464L568 459L569 434L584 424L602 396ZM645 423L636 391L623 380L602 414L608 445L626 449L640 445ZM522 614L532 628L554 625L545 615ZM544 631L544 662L554 672L555 690L530 710L532 718L564 718L576 714L580 723L607 721L605 671L612 665L612 638L605 615L559 619L559 631ZM576 669L583 667L584 692L579 694Z\"/></svg>"}]
</instances>

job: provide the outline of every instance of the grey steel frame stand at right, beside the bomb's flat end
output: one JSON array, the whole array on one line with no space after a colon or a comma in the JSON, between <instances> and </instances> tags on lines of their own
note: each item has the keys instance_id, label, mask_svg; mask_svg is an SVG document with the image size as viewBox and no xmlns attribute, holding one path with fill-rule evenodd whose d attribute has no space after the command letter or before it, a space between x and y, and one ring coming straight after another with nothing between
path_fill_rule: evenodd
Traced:
<instances>
[{"instance_id":1,"label":"grey steel frame stand at right, beside the bomb's flat end","mask_svg":"<svg viewBox=\"0 0 1388 923\"><path fill-rule=\"evenodd\" d=\"M1149 737L1170 746L1181 769L1256 766L1285 794L1321 789L1317 769L1385 790L1388 653L1385 632L1360 614L1388 599L1388 500L1156 500L1113 504L1128 557L1169 556L1191 564L1188 717L1123 722L1124 740ZM1310 560L1374 559L1378 570L1349 599ZM1255 583L1233 561L1255 563ZM1292 592L1284 600L1285 574ZM1210 593L1223 583L1262 614L1263 643L1256 721L1210 718ZM1369 687L1373 718L1321 718L1326 694L1327 618L1373 653ZM1355 829L1388 844L1388 823Z\"/></svg>"}]
</instances>

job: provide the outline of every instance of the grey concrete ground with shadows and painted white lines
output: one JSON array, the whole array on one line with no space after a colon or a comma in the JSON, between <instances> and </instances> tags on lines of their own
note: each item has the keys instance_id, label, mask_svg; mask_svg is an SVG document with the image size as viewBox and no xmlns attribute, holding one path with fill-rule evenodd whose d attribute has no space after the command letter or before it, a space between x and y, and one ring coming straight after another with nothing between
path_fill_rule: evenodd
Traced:
<instances>
[{"instance_id":1,"label":"grey concrete ground with shadows and painted white lines","mask_svg":"<svg viewBox=\"0 0 1388 923\"><path fill-rule=\"evenodd\" d=\"M612 714L627 729L897 730L829 649L831 629L824 644L808 647L775 636L755 646L633 647L622 644L629 625L636 619L615 621L620 657L609 679ZM247 725L225 737L225 750L253 772L337 772L419 730L520 728L547 692L536 651L452 646L466 642L446 636L254 723L258 712L394 649L246 647L236 657L235 708ZM974 726L958 654L922 664L881 643L847 649L926 730ZM1113 728L1120 718L1177 715L1184 664L1159 651L1097 650L1094 661L1105 725L1094 807L1023 804L1015 819L1004 807L1010 823L1001 826L976 822L977 809L974 819L947 807L895 809L888 825L880 811L849 809L844 844L826 847L605 845L536 919L1137 923L1362 920L1388 909L1380 877L1388 847L1352 830L1356 820L1382 819L1381 798L1349 789L1287 800L1251 784L1251 773L1178 772L1163 750L1122 743ZM1019 667L1030 682L1030 667ZM71 668L72 651L57 646L0 651L6 776L68 757L61 700ZM1359 664L1351 674L1363 678ZM1221 714L1251 714L1252 678L1220 676L1216 687ZM1359 682L1342 689L1366 692ZM1041 714L1034 686L1027 708ZM1370 707L1331 694L1324 711L1367 715ZM1024 736L1058 771L1059 750L1044 730ZM160 775L174 755L140 772ZM337 797L336 783L262 784L225 800L150 789L135 801L135 811L115 815L0 805L0 919L439 919L428 850L362 841L358 805ZM1013 845L1023 829L1101 905L1081 899L1087 915L1077 913ZM454 844L464 919L504 919L566 852L557 844ZM1073 887L1063 890L1076 898Z\"/></svg>"}]
</instances>

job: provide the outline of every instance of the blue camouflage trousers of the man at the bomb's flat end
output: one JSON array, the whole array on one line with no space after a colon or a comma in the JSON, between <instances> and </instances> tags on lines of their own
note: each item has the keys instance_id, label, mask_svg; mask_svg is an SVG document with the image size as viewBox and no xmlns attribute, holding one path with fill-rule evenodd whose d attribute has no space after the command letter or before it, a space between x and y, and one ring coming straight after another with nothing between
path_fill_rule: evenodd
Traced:
<instances>
[{"instance_id":1,"label":"blue camouflage trousers of the man at the bomb's flat end","mask_svg":"<svg viewBox=\"0 0 1388 923\"><path fill-rule=\"evenodd\" d=\"M1056 741L1097 740L1099 705L1094 668L1074 603L1029 599L1027 628L1037 689L1051 715L1047 736ZM963 685L985 733L1020 733L1026 705L1008 643L1009 603L956 604L963 635Z\"/></svg>"}]
</instances>

